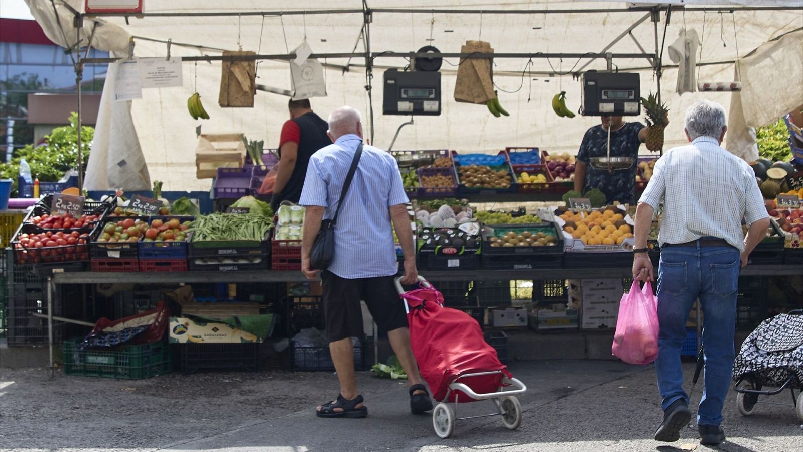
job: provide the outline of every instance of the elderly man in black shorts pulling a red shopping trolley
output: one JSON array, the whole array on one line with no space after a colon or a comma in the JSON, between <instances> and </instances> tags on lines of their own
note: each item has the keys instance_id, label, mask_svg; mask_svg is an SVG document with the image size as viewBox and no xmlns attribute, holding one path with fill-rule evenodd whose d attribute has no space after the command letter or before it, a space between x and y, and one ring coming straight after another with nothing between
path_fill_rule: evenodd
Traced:
<instances>
[{"instance_id":1,"label":"elderly man in black shorts pulling a red shopping trolley","mask_svg":"<svg viewBox=\"0 0 803 452\"><path fill-rule=\"evenodd\" d=\"M360 113L351 107L336 109L329 116L327 132L334 144L310 157L300 204L307 206L301 247L301 271L315 279L310 269L312 243L321 219L340 215L335 232L334 258L320 274L323 282L324 323L329 351L340 380L340 394L335 401L316 409L319 417L365 417L368 408L357 391L354 374L352 337L363 335L360 300L368 306L381 331L387 331L390 345L407 373L410 384L410 411L424 413L432 409L429 393L422 384L407 326L402 301L393 277L398 266L391 222L404 250L402 284L414 284L415 266L413 232L407 214L407 195L396 160L374 146L363 146L352 183L340 199L349 167L362 143Z\"/></svg>"}]
</instances>

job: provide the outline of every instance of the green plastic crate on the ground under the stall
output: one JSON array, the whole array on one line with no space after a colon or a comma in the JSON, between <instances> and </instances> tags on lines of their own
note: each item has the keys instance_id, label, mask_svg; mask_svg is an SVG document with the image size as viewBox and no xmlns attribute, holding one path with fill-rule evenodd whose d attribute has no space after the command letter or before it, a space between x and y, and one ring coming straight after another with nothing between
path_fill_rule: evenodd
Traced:
<instances>
[{"instance_id":1,"label":"green plastic crate on the ground under the stall","mask_svg":"<svg viewBox=\"0 0 803 452\"><path fill-rule=\"evenodd\" d=\"M80 339L64 341L64 373L118 380L141 380L173 371L167 342L124 345L113 350L79 350Z\"/></svg>"}]
</instances>

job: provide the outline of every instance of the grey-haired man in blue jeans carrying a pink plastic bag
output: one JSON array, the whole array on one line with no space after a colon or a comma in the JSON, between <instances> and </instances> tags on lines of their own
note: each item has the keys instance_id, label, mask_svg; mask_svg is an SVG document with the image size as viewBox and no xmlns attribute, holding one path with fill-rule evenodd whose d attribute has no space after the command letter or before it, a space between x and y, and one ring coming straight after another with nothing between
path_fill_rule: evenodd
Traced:
<instances>
[{"instance_id":1,"label":"grey-haired man in blue jeans carrying a pink plastic bag","mask_svg":"<svg viewBox=\"0 0 803 452\"><path fill-rule=\"evenodd\" d=\"M655 164L650 184L636 212L633 276L653 281L647 256L647 235L654 212L663 203L658 242L658 390L663 397L663 421L655 439L675 442L691 420L689 397L683 391L680 347L686 319L699 299L703 308L703 398L697 411L700 443L717 445L725 434L719 427L731 384L736 326L736 292L740 268L764 237L769 218L752 169L719 146L728 129L725 111L711 101L699 101L686 112L687 146L666 152ZM749 225L742 233L742 220Z\"/></svg>"}]
</instances>

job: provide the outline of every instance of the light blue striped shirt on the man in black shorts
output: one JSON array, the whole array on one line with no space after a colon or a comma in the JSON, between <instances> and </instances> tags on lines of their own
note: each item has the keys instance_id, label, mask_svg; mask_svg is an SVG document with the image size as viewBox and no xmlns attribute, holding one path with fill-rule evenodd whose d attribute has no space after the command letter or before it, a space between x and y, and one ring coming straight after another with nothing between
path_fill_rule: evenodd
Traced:
<instances>
[{"instance_id":1,"label":"light blue striped shirt on the man in black shorts","mask_svg":"<svg viewBox=\"0 0 803 452\"><path fill-rule=\"evenodd\" d=\"M335 216L337 200L354 153L362 139L344 135L309 159L299 203L326 208L324 219ZM335 228L335 255L328 270L339 277L391 276L397 273L389 208L406 203L396 159L365 145L354 179L340 208Z\"/></svg>"}]
</instances>

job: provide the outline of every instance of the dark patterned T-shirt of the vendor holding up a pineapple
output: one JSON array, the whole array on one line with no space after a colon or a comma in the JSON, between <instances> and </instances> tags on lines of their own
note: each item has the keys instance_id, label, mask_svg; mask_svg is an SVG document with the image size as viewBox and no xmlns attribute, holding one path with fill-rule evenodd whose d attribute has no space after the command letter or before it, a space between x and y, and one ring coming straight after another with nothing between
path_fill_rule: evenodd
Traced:
<instances>
[{"instance_id":1,"label":"dark patterned T-shirt of the vendor holding up a pineapple","mask_svg":"<svg viewBox=\"0 0 803 452\"><path fill-rule=\"evenodd\" d=\"M638 139L638 132L644 128L641 122L626 122L622 129L610 132L611 157L638 157L638 147L642 146ZM602 125L594 125L585 131L577 160L588 163L592 157L606 157L608 155L608 131ZM636 188L636 170L634 164L627 170L610 172L599 170L589 165L585 170L584 191L599 188L607 197L607 202L620 201L634 203Z\"/></svg>"}]
</instances>

